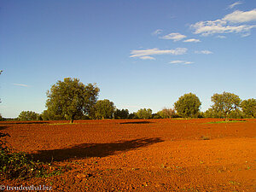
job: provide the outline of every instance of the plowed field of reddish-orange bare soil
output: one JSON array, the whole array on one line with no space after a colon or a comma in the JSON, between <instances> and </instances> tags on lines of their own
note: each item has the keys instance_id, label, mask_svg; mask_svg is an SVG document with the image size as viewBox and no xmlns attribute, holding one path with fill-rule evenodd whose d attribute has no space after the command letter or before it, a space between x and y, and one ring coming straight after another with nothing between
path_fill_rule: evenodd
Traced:
<instances>
[{"instance_id":1,"label":"plowed field of reddish-orange bare soil","mask_svg":"<svg viewBox=\"0 0 256 192\"><path fill-rule=\"evenodd\" d=\"M3 122L17 151L68 166L3 180L52 191L256 191L256 120L136 119ZM211 123L215 122L215 123Z\"/></svg>"}]
</instances>

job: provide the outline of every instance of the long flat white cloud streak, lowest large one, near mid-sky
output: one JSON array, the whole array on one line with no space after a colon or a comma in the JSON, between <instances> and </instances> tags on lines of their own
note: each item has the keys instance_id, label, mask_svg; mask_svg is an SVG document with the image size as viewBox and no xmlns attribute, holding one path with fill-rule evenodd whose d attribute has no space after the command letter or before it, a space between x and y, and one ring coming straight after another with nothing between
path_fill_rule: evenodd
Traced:
<instances>
[{"instance_id":1,"label":"long flat white cloud streak, lowest large one, near mid-sky","mask_svg":"<svg viewBox=\"0 0 256 192\"><path fill-rule=\"evenodd\" d=\"M187 52L187 50L188 50L187 48L166 49L166 50L160 50L157 48L144 49L144 50L131 50L130 57L139 57L140 59L153 59L154 57L150 55L183 55Z\"/></svg>"}]
</instances>

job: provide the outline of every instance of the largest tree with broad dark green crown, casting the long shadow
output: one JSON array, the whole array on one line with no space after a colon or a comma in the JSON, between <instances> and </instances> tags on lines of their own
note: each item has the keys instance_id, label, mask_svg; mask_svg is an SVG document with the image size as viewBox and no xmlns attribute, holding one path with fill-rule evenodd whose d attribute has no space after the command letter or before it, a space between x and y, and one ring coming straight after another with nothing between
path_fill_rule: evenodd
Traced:
<instances>
[{"instance_id":1,"label":"largest tree with broad dark green crown, casting the long shadow","mask_svg":"<svg viewBox=\"0 0 256 192\"><path fill-rule=\"evenodd\" d=\"M79 79L65 78L47 91L46 107L49 113L61 115L73 123L76 115L90 115L99 91L96 84L84 85Z\"/></svg>"}]
</instances>

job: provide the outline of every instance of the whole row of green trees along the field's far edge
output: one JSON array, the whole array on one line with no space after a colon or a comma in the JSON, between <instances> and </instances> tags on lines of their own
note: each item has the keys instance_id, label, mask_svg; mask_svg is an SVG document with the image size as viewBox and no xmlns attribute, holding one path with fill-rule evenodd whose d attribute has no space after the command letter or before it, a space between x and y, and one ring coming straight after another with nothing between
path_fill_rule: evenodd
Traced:
<instances>
[{"instance_id":1,"label":"whole row of green trees along the field's far edge","mask_svg":"<svg viewBox=\"0 0 256 192\"><path fill-rule=\"evenodd\" d=\"M100 89L96 84L84 85L79 79L66 78L58 81L47 91L46 108L43 113L21 112L20 120L69 119L158 119L158 118L256 118L256 100L241 101L239 96L224 92L212 96L212 107L200 111L201 101L193 93L180 96L174 108L164 108L152 113L150 108L129 113L128 109L115 108L109 100L97 100Z\"/></svg>"}]
</instances>

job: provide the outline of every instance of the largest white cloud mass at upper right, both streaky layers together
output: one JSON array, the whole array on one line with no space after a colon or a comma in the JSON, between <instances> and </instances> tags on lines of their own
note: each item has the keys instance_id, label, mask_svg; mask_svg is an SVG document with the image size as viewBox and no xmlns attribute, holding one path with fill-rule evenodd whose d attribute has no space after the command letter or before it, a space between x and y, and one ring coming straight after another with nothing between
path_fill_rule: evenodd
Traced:
<instances>
[{"instance_id":1,"label":"largest white cloud mass at upper right, both streaky layers together","mask_svg":"<svg viewBox=\"0 0 256 192\"><path fill-rule=\"evenodd\" d=\"M224 16L223 19L199 21L190 27L195 30L195 34L201 34L203 36L231 32L241 33L243 35L244 33L250 34L251 29L256 27L256 25L235 25L235 23L253 20L256 20L256 9L247 12L235 11L230 15Z\"/></svg>"}]
</instances>

